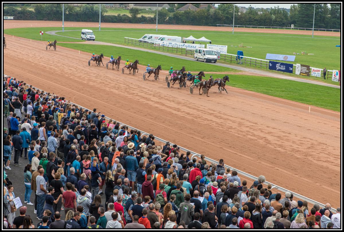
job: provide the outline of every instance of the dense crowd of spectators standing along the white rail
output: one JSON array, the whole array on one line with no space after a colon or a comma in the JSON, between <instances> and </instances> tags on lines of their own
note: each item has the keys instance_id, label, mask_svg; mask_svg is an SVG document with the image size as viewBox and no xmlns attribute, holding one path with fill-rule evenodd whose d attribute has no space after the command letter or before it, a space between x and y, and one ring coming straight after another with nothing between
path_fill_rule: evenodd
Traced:
<instances>
[{"instance_id":1,"label":"dense crowd of spectators standing along the white rail","mask_svg":"<svg viewBox=\"0 0 344 232\"><path fill-rule=\"evenodd\" d=\"M222 159L191 159L15 78L3 88L4 228L341 228L340 208L333 214L329 203L309 208L290 192L272 194L262 175L241 180ZM21 200L34 205L37 225L26 206L14 207L11 179L20 174L5 171L21 165Z\"/></svg>"}]
</instances>

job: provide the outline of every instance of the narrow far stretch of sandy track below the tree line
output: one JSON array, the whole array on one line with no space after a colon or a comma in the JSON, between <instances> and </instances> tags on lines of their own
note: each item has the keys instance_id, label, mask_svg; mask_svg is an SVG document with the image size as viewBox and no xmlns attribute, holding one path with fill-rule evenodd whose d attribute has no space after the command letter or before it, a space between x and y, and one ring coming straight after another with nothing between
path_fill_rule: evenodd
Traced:
<instances>
[{"instance_id":1,"label":"narrow far stretch of sandy track below the tree line","mask_svg":"<svg viewBox=\"0 0 344 232\"><path fill-rule=\"evenodd\" d=\"M62 21L29 21L29 20L4 20L4 29L20 27L62 27ZM97 22L64 22L64 27L99 27ZM108 28L145 28L155 29L156 24L139 24L139 23L104 23L101 27ZM175 29L175 30L202 30L202 31L227 31L232 32L231 27L209 27L209 26L187 26L187 25L166 25L158 24L158 29ZM283 30L283 29L257 29L257 28L234 28L234 32L259 32L259 33L276 33L276 34L308 34L312 31L302 30ZM315 36L340 36L340 32L314 31Z\"/></svg>"}]
</instances>

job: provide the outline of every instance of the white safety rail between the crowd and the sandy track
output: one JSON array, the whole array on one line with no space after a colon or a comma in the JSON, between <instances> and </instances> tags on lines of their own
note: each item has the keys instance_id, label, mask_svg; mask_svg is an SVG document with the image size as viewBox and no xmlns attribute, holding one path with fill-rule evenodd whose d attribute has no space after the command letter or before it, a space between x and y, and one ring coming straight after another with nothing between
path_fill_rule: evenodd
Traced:
<instances>
[{"instance_id":1,"label":"white safety rail between the crowd and the sandy track","mask_svg":"<svg viewBox=\"0 0 344 232\"><path fill-rule=\"evenodd\" d=\"M4 77L8 77L8 75L5 75L5 74L4 74ZM28 83L26 83L26 84L28 84ZM30 85L30 84L29 84L29 85ZM41 89L36 88L36 87L34 87L34 86L33 86L33 88L35 88L35 89L37 89L37 90L41 90ZM44 91L44 90L41 90L41 91ZM46 92L46 91L44 91L44 92ZM47 93L47 92L46 92L46 93ZM87 108L85 108L85 107L83 107L83 106L81 106L81 105L78 105L78 104L76 104L76 103L74 103L74 102L69 102L69 103L75 104L75 105L77 105L78 107L82 107L82 108L84 108L85 110L89 110L89 111L91 111L91 112L93 111L93 110L87 109ZM106 118L107 120L110 119L109 117L105 117L105 118ZM113 118L112 118L112 119L113 119ZM117 120L116 120L116 121L117 121ZM119 122L119 121L117 121L117 122ZM143 134L146 134L146 135L149 135L149 134L150 134L150 133L144 132L144 131L142 131L142 130L140 130L140 129L131 127L130 125L127 125L127 124L125 124L125 123L122 123L122 122L119 122L119 123L120 123L121 125L126 125L126 126L128 126L128 128L130 128L130 129L132 129L132 130L135 130L135 129L136 129L136 130L138 130L138 131L141 131L141 132L142 132L141 136L142 136ZM154 136L154 137L155 137L155 136ZM155 137L155 140L158 140L158 141L163 142L163 143L166 143L166 142L167 142L167 140L160 139L160 138L158 138L158 137ZM174 145L174 143L171 143L171 142L170 142L170 144ZM199 157L199 158L201 157L201 154L198 154L198 153L196 153L196 152L190 151L189 149L186 149L186 148L183 148L183 147L179 147L179 148L180 148L181 150L183 150L184 152L189 151L189 152L192 154L190 160L192 160L192 158L194 158L194 157ZM206 161L208 161L208 162L214 162L214 163L218 164L218 161L213 160L213 159L210 159L210 158L208 158L208 157L205 157L204 159L205 159ZM249 173L246 173L246 172L244 172L244 171L240 171L240 170L238 170L238 169L236 169L236 168L234 168L234 167L231 167L231 166L228 166L228 165L225 165L225 167L226 167L226 168L230 168L231 170L235 170L235 171L238 172L238 174L243 175L243 176L246 176L246 177L248 177L248 178L250 178L250 179L252 179L252 180L258 180L258 177L254 176L254 175L251 175L251 174L249 174ZM288 189L285 189L285 188L283 188L283 187L281 187L281 186L278 186L278 185L276 185L276 184L270 183L270 182L268 182L268 181L265 181L264 184L266 184L266 185L267 185L267 184L271 184L271 185L272 185L272 188L278 189L278 190L280 190L280 191L282 191L282 192L291 192L291 193L294 195L294 197L296 197L296 198L299 198L299 199L304 200L304 201L308 201L309 203L312 203L312 204L318 203L318 204L320 205L320 207L322 207L322 208L325 207L325 204L322 204L322 203L320 203L320 202L314 201L314 200L312 200L312 199L310 199L310 198L307 198L306 196L300 195L300 194L298 194L298 193L289 191ZM331 211L332 211L332 212L336 212L336 209L331 208Z\"/></svg>"}]
</instances>

